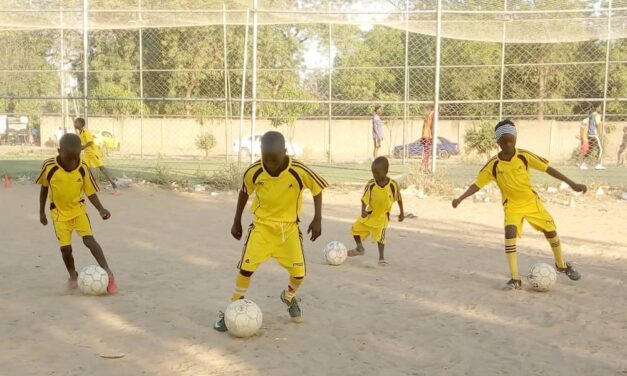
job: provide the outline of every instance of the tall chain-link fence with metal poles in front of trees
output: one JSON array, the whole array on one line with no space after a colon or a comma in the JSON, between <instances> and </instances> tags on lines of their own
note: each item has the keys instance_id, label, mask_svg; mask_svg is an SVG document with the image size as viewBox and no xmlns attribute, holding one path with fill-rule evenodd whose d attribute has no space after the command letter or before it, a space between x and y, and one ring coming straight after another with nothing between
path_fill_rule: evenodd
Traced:
<instances>
[{"instance_id":1,"label":"tall chain-link fence with metal poles in front of trees","mask_svg":"<svg viewBox=\"0 0 627 376\"><path fill-rule=\"evenodd\" d=\"M434 156L511 118L521 142L566 159L597 104L608 155L627 121L625 0L0 7L3 143L54 147L84 116L112 156L249 159L251 135L278 128L301 158L361 161L382 105L381 153L402 161L422 155L432 110Z\"/></svg>"}]
</instances>

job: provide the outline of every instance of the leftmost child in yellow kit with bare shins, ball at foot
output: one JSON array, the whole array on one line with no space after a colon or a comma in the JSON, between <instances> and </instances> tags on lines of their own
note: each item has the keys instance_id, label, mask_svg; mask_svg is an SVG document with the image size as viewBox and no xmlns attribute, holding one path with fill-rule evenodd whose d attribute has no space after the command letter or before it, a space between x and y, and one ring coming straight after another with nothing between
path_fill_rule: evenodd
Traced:
<instances>
[{"instance_id":1,"label":"leftmost child in yellow kit with bare shins, ball at foot","mask_svg":"<svg viewBox=\"0 0 627 376\"><path fill-rule=\"evenodd\" d=\"M102 248L92 235L83 194L98 209L102 219L109 219L111 213L100 203L96 195L98 192L96 179L89 170L89 166L81 160L80 155L80 138L75 134L68 133L63 135L59 141L59 155L44 162L37 178L37 184L41 184L39 221L44 226L48 224L45 207L49 194L52 224L61 247L63 262L70 274L68 288L77 287L78 273L74 268L74 258L72 257L72 232L76 231L83 238L83 243L89 248L98 264L109 274L107 292L115 294L118 288L113 272L107 264Z\"/></svg>"}]
</instances>

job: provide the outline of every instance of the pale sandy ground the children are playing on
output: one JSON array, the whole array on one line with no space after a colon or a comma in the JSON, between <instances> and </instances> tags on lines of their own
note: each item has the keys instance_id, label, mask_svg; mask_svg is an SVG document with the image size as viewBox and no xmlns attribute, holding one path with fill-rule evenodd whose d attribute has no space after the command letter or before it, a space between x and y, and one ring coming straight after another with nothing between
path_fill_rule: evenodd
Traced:
<instances>
[{"instance_id":1,"label":"pale sandy ground the children are playing on","mask_svg":"<svg viewBox=\"0 0 627 376\"><path fill-rule=\"evenodd\" d=\"M376 265L372 245L331 267L321 249L351 244L359 195L328 192L323 236L305 245L305 323L289 322L278 298L287 275L269 262L248 294L263 328L243 340L211 329L242 246L228 235L234 196L145 186L102 194L113 217L93 224L117 273L113 297L64 290L37 197L34 185L0 189L0 375L627 374L627 202L548 205L582 280L560 275L548 293L503 292L498 204L469 200L452 210L444 200L406 198L418 218L392 224L390 267ZM77 266L93 264L75 244ZM540 261L552 262L550 249L526 228L520 268ZM125 356L99 356L117 353Z\"/></svg>"}]
</instances>

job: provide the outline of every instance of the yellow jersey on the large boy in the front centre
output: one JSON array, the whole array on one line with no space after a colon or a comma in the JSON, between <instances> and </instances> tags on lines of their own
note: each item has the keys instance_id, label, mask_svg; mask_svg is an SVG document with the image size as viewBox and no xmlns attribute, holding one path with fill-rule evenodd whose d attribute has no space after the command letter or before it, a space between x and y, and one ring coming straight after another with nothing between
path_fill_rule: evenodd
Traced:
<instances>
[{"instance_id":1,"label":"yellow jersey on the large boy in the front centre","mask_svg":"<svg viewBox=\"0 0 627 376\"><path fill-rule=\"evenodd\" d=\"M250 211L257 219L275 222L299 222L303 190L319 195L327 182L302 162L292 158L279 176L273 177L261 161L253 163L244 173L242 190L255 193Z\"/></svg>"}]
</instances>

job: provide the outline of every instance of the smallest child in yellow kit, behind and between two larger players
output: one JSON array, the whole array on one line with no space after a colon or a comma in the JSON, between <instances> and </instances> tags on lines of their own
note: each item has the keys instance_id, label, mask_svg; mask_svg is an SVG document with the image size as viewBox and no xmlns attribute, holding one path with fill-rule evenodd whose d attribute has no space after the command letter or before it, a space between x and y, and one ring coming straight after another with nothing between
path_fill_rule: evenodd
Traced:
<instances>
[{"instance_id":1,"label":"smallest child in yellow kit, behind and between two larger players","mask_svg":"<svg viewBox=\"0 0 627 376\"><path fill-rule=\"evenodd\" d=\"M379 247L379 265L387 266L383 254L385 250L385 230L390 223L390 210L395 202L401 214L399 222L405 219L403 211L403 199L398 189L398 183L390 179L388 170L390 162L385 157L378 157L372 162L372 176L374 179L366 184L361 198L361 218L357 219L351 229L357 247L348 251L349 256L363 256L365 253L362 240L370 236Z\"/></svg>"}]
</instances>

